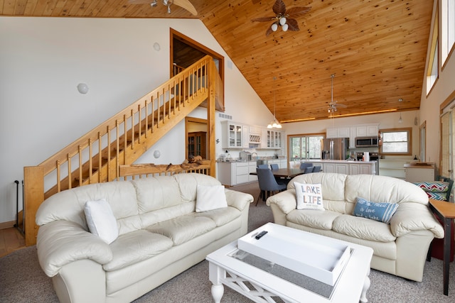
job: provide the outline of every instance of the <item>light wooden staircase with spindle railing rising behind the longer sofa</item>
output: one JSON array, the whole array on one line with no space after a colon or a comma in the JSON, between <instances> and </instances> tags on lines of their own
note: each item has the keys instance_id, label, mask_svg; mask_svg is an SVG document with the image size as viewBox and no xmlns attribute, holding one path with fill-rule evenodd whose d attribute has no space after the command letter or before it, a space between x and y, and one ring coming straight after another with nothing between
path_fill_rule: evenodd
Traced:
<instances>
[{"instance_id":1,"label":"light wooden staircase with spindle railing rising behind the longer sofa","mask_svg":"<svg viewBox=\"0 0 455 303\"><path fill-rule=\"evenodd\" d=\"M24 167L26 245L36 243L36 211L46 198L85 184L126 179L131 174L122 175L120 167L132 165L203 103L210 130L206 171L214 176L215 106L224 103L222 85L212 58L205 56L40 165ZM144 165L141 167L143 171ZM180 171L168 168L156 166L151 173ZM181 171L190 169L183 167Z\"/></svg>"}]
</instances>

